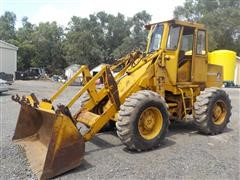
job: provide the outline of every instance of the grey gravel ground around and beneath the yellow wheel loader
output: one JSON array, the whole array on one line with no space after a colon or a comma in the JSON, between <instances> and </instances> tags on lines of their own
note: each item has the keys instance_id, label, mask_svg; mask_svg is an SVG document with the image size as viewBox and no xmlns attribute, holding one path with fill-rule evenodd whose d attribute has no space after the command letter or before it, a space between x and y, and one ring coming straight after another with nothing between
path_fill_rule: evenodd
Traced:
<instances>
[{"instance_id":1,"label":"grey gravel ground around and beneath the yellow wheel loader","mask_svg":"<svg viewBox=\"0 0 240 180\"><path fill-rule=\"evenodd\" d=\"M16 81L0 96L0 179L34 179L25 155L11 142L20 106L12 94L50 97L60 86L48 81ZM79 87L71 87L67 100ZM96 135L86 143L83 164L55 179L240 179L240 89L225 89L232 99L232 117L223 134L204 136L187 124L173 124L162 145L152 151L133 153L115 132ZM76 110L76 107L75 107Z\"/></svg>"}]
</instances>

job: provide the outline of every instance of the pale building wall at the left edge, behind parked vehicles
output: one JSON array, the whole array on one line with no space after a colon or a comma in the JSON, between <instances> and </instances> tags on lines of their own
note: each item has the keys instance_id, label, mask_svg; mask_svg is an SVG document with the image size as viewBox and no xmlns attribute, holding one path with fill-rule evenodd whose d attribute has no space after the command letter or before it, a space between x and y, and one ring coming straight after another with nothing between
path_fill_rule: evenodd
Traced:
<instances>
[{"instance_id":1,"label":"pale building wall at the left edge, behind parked vehicles","mask_svg":"<svg viewBox=\"0 0 240 180\"><path fill-rule=\"evenodd\" d=\"M0 72L13 74L17 71L18 47L0 40Z\"/></svg>"}]
</instances>

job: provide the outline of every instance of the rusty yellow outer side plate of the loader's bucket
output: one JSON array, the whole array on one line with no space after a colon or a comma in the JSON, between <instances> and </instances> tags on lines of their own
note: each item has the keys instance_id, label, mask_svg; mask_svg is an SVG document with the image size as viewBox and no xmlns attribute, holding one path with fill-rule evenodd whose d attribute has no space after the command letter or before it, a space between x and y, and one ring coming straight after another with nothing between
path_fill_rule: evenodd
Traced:
<instances>
[{"instance_id":1,"label":"rusty yellow outer side plate of the loader's bucket","mask_svg":"<svg viewBox=\"0 0 240 180\"><path fill-rule=\"evenodd\" d=\"M53 177L81 164L85 143L78 129L65 115L54 120L42 178Z\"/></svg>"}]
</instances>

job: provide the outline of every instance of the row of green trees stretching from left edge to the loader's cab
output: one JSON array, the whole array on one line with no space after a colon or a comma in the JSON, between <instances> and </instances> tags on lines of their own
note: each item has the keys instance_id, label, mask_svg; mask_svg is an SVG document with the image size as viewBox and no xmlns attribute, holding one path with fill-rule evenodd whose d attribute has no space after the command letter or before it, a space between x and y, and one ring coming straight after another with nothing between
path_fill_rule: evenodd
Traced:
<instances>
[{"instance_id":1,"label":"row of green trees stretching from left edge to the loader's cab","mask_svg":"<svg viewBox=\"0 0 240 180\"><path fill-rule=\"evenodd\" d=\"M18 70L44 67L50 73L62 73L70 64L94 67L111 63L133 49L145 48L144 25L151 16L142 11L132 18L98 12L88 18L73 16L66 29L56 22L31 24L27 17L15 30L16 15L5 12L0 17L0 37L16 45Z\"/></svg>"}]
</instances>

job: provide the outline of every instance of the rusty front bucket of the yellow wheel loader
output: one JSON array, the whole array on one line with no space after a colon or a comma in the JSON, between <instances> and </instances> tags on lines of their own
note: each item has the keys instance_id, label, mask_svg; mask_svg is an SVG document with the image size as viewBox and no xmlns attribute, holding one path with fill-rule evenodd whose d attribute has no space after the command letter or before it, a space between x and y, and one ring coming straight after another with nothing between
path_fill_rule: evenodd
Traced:
<instances>
[{"instance_id":1,"label":"rusty front bucket of the yellow wheel loader","mask_svg":"<svg viewBox=\"0 0 240 180\"><path fill-rule=\"evenodd\" d=\"M13 140L24 147L34 174L48 179L80 165L83 137L72 120L22 104Z\"/></svg>"}]
</instances>

